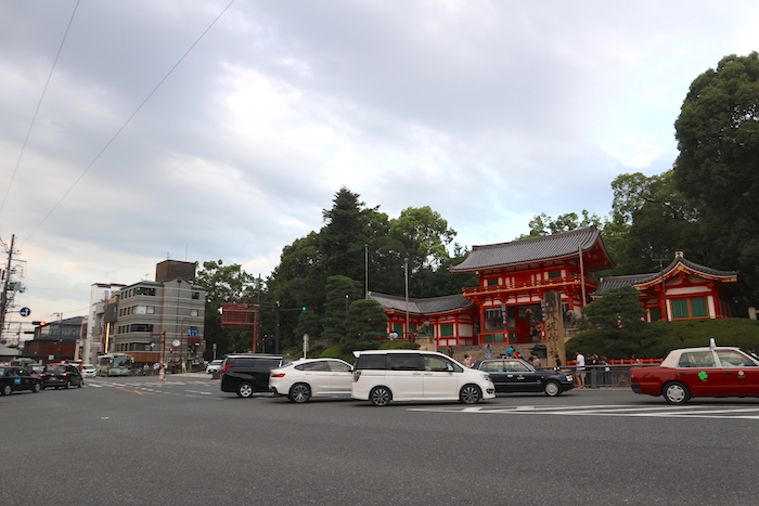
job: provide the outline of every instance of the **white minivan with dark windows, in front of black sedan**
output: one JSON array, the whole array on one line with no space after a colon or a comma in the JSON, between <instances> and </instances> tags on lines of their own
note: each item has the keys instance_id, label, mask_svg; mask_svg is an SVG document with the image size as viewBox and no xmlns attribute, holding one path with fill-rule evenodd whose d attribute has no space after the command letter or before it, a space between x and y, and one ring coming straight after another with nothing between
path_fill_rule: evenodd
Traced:
<instances>
[{"instance_id":1,"label":"white minivan with dark windows, in front of black sedan","mask_svg":"<svg viewBox=\"0 0 759 506\"><path fill-rule=\"evenodd\" d=\"M481 371L464 367L434 351L353 351L351 395L385 406L391 401L459 401L476 404L493 399L496 387Z\"/></svg>"}]
</instances>

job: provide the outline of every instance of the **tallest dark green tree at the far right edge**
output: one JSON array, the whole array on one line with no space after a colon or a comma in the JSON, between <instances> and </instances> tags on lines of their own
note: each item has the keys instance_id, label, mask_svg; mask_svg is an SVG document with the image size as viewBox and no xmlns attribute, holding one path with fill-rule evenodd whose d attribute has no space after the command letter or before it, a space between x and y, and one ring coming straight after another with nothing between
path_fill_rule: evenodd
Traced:
<instances>
[{"instance_id":1,"label":"tallest dark green tree at the far right edge","mask_svg":"<svg viewBox=\"0 0 759 506\"><path fill-rule=\"evenodd\" d=\"M712 265L737 267L759 295L759 53L698 76L674 122L678 187L702 213Z\"/></svg>"}]
</instances>

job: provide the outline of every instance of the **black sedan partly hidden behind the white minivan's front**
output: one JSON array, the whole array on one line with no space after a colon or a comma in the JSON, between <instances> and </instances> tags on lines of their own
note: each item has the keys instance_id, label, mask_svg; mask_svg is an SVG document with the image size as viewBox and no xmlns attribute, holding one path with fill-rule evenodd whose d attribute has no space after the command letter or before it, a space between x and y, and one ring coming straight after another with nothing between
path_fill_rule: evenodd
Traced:
<instances>
[{"instance_id":1,"label":"black sedan partly hidden behind the white minivan's front","mask_svg":"<svg viewBox=\"0 0 759 506\"><path fill-rule=\"evenodd\" d=\"M483 360L475 368L488 373L496 392L543 392L546 395L561 395L575 388L571 374L555 371L537 371L520 359Z\"/></svg>"}]
</instances>

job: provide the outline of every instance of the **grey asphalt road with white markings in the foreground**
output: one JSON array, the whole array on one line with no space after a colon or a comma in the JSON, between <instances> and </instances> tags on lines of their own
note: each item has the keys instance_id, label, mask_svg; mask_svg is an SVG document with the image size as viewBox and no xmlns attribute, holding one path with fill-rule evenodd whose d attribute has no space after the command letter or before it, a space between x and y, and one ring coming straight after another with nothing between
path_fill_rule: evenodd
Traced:
<instances>
[{"instance_id":1,"label":"grey asphalt road with white markings in the foreground","mask_svg":"<svg viewBox=\"0 0 759 506\"><path fill-rule=\"evenodd\" d=\"M0 397L0 504L757 503L759 399L239 399L203 374Z\"/></svg>"}]
</instances>

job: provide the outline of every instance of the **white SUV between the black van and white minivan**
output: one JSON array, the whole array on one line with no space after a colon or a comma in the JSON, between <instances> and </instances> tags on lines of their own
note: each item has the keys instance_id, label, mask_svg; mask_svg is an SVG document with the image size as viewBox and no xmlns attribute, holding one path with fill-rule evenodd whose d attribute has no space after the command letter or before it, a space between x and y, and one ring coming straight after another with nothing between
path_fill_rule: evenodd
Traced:
<instances>
[{"instance_id":1,"label":"white SUV between the black van and white minivan","mask_svg":"<svg viewBox=\"0 0 759 506\"><path fill-rule=\"evenodd\" d=\"M339 359L304 359L271 371L269 389L293 402L312 397L350 399L353 367Z\"/></svg>"}]
</instances>

